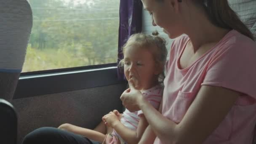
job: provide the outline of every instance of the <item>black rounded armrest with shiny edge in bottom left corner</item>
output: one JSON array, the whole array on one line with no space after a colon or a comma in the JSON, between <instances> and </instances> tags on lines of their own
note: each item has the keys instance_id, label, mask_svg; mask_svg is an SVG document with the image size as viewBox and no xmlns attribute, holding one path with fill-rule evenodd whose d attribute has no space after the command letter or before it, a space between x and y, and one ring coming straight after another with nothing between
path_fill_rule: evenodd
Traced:
<instances>
[{"instance_id":1,"label":"black rounded armrest with shiny edge in bottom left corner","mask_svg":"<svg viewBox=\"0 0 256 144\"><path fill-rule=\"evenodd\" d=\"M0 99L0 144L16 144L17 115L12 104Z\"/></svg>"}]
</instances>

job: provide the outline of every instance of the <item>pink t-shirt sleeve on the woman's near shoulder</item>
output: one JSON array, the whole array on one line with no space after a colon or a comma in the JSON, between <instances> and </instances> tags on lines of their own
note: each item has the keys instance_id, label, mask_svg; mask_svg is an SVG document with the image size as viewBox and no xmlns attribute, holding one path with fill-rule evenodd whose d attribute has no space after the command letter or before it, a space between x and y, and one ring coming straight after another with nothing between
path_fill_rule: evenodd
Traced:
<instances>
[{"instance_id":1,"label":"pink t-shirt sleeve on the woman's near shoulder","mask_svg":"<svg viewBox=\"0 0 256 144\"><path fill-rule=\"evenodd\" d=\"M256 45L222 45L208 63L201 85L212 85L244 93L256 99Z\"/></svg>"}]
</instances>

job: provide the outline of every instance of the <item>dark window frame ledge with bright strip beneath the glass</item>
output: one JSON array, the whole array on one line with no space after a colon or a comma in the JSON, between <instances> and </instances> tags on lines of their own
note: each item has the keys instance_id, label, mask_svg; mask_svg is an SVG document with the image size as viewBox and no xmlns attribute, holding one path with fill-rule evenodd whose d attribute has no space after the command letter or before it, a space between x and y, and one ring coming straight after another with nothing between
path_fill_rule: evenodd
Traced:
<instances>
[{"instance_id":1,"label":"dark window frame ledge with bright strip beneath the glass","mask_svg":"<svg viewBox=\"0 0 256 144\"><path fill-rule=\"evenodd\" d=\"M116 84L127 84L117 78L117 63L24 72L13 99Z\"/></svg>"}]
</instances>

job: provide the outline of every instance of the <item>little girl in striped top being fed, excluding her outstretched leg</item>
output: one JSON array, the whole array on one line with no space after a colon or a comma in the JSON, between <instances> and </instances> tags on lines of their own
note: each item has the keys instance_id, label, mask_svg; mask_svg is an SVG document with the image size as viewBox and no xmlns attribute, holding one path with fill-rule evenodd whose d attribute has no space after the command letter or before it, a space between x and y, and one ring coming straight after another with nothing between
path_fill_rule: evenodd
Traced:
<instances>
[{"instance_id":1,"label":"little girl in striped top being fed, excluding her outstretched leg","mask_svg":"<svg viewBox=\"0 0 256 144\"><path fill-rule=\"evenodd\" d=\"M124 66L126 79L133 81L135 88L141 91L153 107L158 109L163 91L158 78L163 73L167 54L165 40L161 37L135 34L124 46L123 54L124 59L120 61L120 64ZM121 120L118 120L115 113L110 112L102 120L114 128L112 134L107 135L105 139L107 144L125 142L136 144L148 125L141 110L130 112L125 109Z\"/></svg>"}]
</instances>

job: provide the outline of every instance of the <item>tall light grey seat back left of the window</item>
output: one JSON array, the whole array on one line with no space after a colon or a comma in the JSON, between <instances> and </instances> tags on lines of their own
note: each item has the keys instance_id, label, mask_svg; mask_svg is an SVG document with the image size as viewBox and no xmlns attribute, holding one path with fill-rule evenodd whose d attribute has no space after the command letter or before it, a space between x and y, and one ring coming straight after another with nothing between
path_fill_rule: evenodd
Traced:
<instances>
[{"instance_id":1,"label":"tall light grey seat back left of the window","mask_svg":"<svg viewBox=\"0 0 256 144\"><path fill-rule=\"evenodd\" d=\"M31 29L32 10L27 0L0 0L1 99L13 99Z\"/></svg>"}]
</instances>

